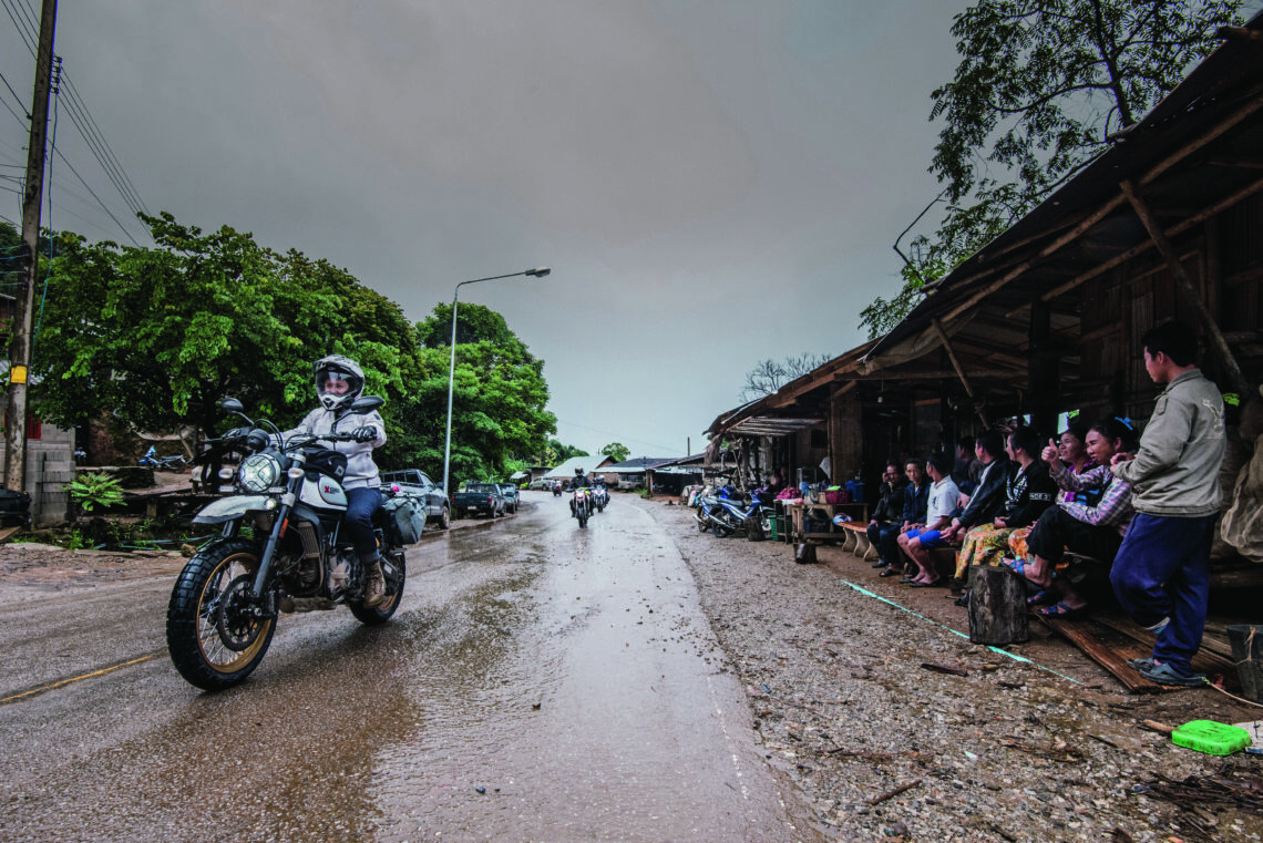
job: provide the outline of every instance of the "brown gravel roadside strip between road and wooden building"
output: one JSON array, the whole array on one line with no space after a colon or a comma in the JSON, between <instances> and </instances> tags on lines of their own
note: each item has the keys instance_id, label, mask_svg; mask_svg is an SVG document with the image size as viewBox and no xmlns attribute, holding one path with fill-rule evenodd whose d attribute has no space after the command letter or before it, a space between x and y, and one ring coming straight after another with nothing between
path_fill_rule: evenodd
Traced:
<instances>
[{"instance_id":1,"label":"brown gravel roadside strip between road and wooden building","mask_svg":"<svg viewBox=\"0 0 1263 843\"><path fill-rule=\"evenodd\" d=\"M1257 815L1146 791L1159 776L1258 779L1263 761L1177 747L1143 721L1240 723L1258 708L1212 689L1129 695L1037 622L1029 645L1005 647L1032 660L1018 661L947 628L967 621L945 589L890 584L835 548L799 565L789 545L715 539L687 507L638 505L687 560L755 740L823 839L1263 839Z\"/></svg>"}]
</instances>

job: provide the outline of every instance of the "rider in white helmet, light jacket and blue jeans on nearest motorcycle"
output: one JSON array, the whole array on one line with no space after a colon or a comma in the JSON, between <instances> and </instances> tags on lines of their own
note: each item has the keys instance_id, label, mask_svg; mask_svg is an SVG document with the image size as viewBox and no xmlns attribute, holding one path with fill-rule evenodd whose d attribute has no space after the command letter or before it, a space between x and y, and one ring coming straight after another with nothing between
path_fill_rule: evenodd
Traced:
<instances>
[{"instance_id":1,"label":"rider in white helmet, light jacket and blue jeans on nearest motorcycle","mask_svg":"<svg viewBox=\"0 0 1263 843\"><path fill-rule=\"evenodd\" d=\"M342 524L360 564L365 570L364 604L373 607L385 598L385 578L381 574L381 557L373 535L373 512L381 505L381 478L373 462L373 449L386 443L386 425L376 410L351 414L351 404L364 392L364 370L359 363L341 355L317 360L316 398L320 406L293 430L296 434L320 435L322 433L350 433L355 442L322 443L346 454L346 515Z\"/></svg>"}]
</instances>

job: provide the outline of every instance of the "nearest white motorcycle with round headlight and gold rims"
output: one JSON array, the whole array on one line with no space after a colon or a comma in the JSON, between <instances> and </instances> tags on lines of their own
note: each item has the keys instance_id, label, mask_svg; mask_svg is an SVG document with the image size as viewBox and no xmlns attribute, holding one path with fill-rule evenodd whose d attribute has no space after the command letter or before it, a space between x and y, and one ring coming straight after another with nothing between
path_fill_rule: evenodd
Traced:
<instances>
[{"instance_id":1,"label":"nearest white motorcycle with round headlight and gold rims","mask_svg":"<svg viewBox=\"0 0 1263 843\"><path fill-rule=\"evenodd\" d=\"M351 413L371 413L381 404L378 396L364 396ZM346 456L320 444L354 437L331 433L282 440L277 425L250 420L236 399L225 399L221 406L249 427L215 442L249 456L237 469L220 469L220 492L227 497L193 519L218 525L220 536L188 560L167 606L171 660L181 676L203 690L230 688L249 676L266 654L282 612L332 610L341 603L361 623L385 623L403 598L403 545L417 541L424 525L424 512L407 495L389 498L374 514L385 599L365 606L365 573L341 530Z\"/></svg>"}]
</instances>

